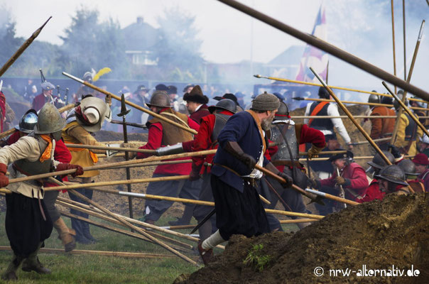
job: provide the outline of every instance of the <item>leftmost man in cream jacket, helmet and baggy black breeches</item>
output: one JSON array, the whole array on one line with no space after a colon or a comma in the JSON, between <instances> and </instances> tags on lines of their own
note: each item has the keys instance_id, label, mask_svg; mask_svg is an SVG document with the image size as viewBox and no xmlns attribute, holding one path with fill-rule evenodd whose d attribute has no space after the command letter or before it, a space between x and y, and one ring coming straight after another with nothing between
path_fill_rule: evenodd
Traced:
<instances>
[{"instance_id":1,"label":"leftmost man in cream jacket, helmet and baggy black breeches","mask_svg":"<svg viewBox=\"0 0 429 284\"><path fill-rule=\"evenodd\" d=\"M53 229L49 214L45 214L47 208L43 202L43 183L30 180L9 185L6 171L9 171L11 178L69 169L76 169L73 175L82 175L80 165L54 160L55 141L61 139L64 126L65 121L58 109L53 104L45 104L40 109L33 133L0 149L0 187L12 191L11 195L6 195L5 225L13 260L1 276L4 280L17 280L16 271L22 262L23 271L50 273L37 257L38 250L44 245L43 241L49 238Z\"/></svg>"}]
</instances>

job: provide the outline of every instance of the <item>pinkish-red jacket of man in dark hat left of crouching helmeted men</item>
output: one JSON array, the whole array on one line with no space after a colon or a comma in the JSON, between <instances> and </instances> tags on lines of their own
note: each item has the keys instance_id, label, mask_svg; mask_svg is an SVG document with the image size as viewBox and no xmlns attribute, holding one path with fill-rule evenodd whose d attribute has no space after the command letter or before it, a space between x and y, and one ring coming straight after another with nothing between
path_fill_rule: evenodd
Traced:
<instances>
[{"instance_id":1,"label":"pinkish-red jacket of man in dark hat left of crouching helmeted men","mask_svg":"<svg viewBox=\"0 0 429 284\"><path fill-rule=\"evenodd\" d=\"M348 200L357 201L358 199L352 194L350 194L348 190L345 190L346 188L353 190L362 197L365 195L366 188L368 187L368 180L366 180L364 168L362 168L357 163L351 163L350 165L346 165L344 167L341 176L350 180L350 185L343 185L345 197ZM335 187L335 184L337 183L335 178L337 178L337 171L334 171L330 178L320 180L320 185L327 187Z\"/></svg>"}]
</instances>

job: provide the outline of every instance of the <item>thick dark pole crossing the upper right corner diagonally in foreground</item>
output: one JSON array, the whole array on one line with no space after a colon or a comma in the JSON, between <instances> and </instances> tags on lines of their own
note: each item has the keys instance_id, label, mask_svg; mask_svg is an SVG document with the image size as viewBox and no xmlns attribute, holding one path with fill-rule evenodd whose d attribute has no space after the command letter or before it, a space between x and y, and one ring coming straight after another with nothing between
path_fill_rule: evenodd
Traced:
<instances>
[{"instance_id":1,"label":"thick dark pole crossing the upper right corner diagonally in foreground","mask_svg":"<svg viewBox=\"0 0 429 284\"><path fill-rule=\"evenodd\" d=\"M289 35L292 35L293 37L298 38L299 40L303 40L305 43L313 45L316 48L319 48L320 50L323 50L326 53L329 53L330 55L340 58L341 60L344 60L345 62L349 62L350 64L366 72L369 72L371 75L374 75L383 80L386 80L387 82L390 82L391 84L401 87L402 89L410 92L411 94L415 94L417 97L420 97L421 99L425 99L429 101L429 93L424 91L423 89L413 86L412 84L409 84L404 80L401 80L398 77L391 75L389 72L386 72L380 69L379 67L371 65L369 62L366 62L360 58L357 58L357 56L347 53L344 50L341 50L340 48L337 48L336 46L331 45L330 43L320 40L319 38L316 38L313 35L309 35L308 33L303 33L301 31L298 31L297 29L292 28L291 26L288 26L285 23L282 23L281 21L277 21L274 18L266 16L264 13L251 9L249 6L241 4L238 1L234 1L234 0L217 0L217 1L227 4L228 6L231 6L234 9L237 9L243 13L246 13L249 16L258 18L260 21L270 26L273 26L274 28L277 28L280 31L288 33Z\"/></svg>"}]
</instances>

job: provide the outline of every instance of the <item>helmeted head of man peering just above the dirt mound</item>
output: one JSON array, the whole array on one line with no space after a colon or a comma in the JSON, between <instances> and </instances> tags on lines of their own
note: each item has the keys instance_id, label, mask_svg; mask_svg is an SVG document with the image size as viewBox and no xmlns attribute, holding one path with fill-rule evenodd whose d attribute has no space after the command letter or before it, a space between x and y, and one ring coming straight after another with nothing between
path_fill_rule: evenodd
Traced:
<instances>
[{"instance_id":1,"label":"helmeted head of man peering just above the dirt mound","mask_svg":"<svg viewBox=\"0 0 429 284\"><path fill-rule=\"evenodd\" d=\"M406 182L405 173L398 165L386 165L380 170L379 175L376 175L379 180L380 190L396 195L408 195L408 183Z\"/></svg>"}]
</instances>

